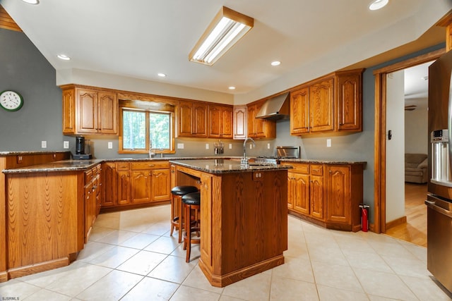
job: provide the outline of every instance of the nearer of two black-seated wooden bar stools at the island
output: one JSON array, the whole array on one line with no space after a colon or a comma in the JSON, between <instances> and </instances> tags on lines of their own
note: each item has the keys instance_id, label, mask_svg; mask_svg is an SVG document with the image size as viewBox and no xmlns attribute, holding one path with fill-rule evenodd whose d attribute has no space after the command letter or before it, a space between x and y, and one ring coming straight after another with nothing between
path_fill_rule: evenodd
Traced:
<instances>
[{"instance_id":1,"label":"nearer of two black-seated wooden bar stools at the island","mask_svg":"<svg viewBox=\"0 0 452 301\"><path fill-rule=\"evenodd\" d=\"M201 212L201 192L191 192L182 197L184 203L184 250L186 250L186 262L190 262L192 243L201 243L201 238L191 238L191 233L201 231L199 214ZM193 214L192 214L193 212ZM199 234L198 234L199 237Z\"/></svg>"}]
</instances>

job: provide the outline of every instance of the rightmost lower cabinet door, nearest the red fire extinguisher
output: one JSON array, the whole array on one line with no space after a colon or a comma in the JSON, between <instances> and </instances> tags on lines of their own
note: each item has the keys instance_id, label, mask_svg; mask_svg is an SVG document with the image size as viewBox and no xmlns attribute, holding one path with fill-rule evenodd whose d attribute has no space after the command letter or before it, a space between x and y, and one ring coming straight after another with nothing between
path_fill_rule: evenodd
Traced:
<instances>
[{"instance_id":1,"label":"rightmost lower cabinet door, nearest the red fire extinguisher","mask_svg":"<svg viewBox=\"0 0 452 301\"><path fill-rule=\"evenodd\" d=\"M328 196L327 196L327 220L350 223L351 221L351 191L350 191L350 167L328 166ZM354 208L354 210L358 210Z\"/></svg>"}]
</instances>

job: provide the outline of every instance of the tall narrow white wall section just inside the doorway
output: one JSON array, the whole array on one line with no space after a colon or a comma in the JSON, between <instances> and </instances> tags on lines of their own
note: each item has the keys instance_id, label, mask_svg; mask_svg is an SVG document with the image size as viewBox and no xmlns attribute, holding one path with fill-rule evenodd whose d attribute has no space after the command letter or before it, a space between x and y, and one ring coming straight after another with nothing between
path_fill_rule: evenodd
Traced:
<instances>
[{"instance_id":1,"label":"tall narrow white wall section just inside the doorway","mask_svg":"<svg viewBox=\"0 0 452 301\"><path fill-rule=\"evenodd\" d=\"M405 216L404 77L403 70L386 77L386 223Z\"/></svg>"}]
</instances>

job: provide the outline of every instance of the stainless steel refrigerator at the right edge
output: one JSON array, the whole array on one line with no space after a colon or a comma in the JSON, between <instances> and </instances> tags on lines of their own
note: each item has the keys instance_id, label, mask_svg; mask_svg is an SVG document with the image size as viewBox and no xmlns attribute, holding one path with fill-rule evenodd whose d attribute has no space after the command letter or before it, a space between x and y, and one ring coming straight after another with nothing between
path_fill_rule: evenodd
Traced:
<instances>
[{"instance_id":1,"label":"stainless steel refrigerator at the right edge","mask_svg":"<svg viewBox=\"0 0 452 301\"><path fill-rule=\"evenodd\" d=\"M452 291L452 51L429 66L427 269Z\"/></svg>"}]
</instances>

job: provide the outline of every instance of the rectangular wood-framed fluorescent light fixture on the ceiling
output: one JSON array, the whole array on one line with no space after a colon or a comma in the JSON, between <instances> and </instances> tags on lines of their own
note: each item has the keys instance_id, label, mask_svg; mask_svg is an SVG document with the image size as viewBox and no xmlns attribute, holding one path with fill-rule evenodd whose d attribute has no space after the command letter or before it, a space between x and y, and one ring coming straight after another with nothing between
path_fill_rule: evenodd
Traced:
<instances>
[{"instance_id":1,"label":"rectangular wood-framed fluorescent light fixture on the ceiling","mask_svg":"<svg viewBox=\"0 0 452 301\"><path fill-rule=\"evenodd\" d=\"M254 19L223 6L189 54L189 60L212 66L254 26Z\"/></svg>"}]
</instances>

